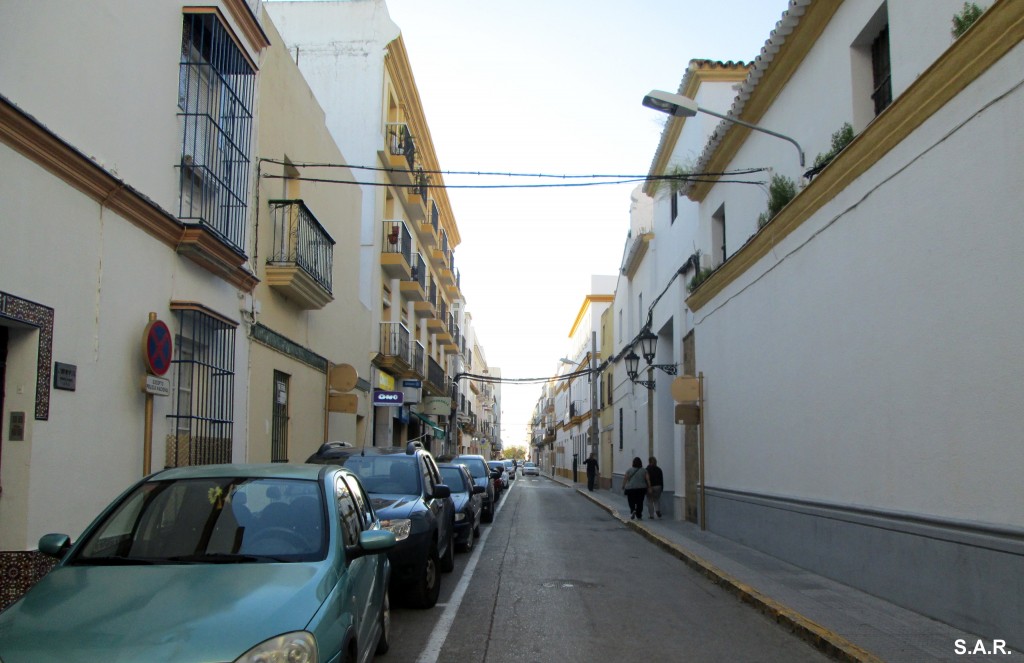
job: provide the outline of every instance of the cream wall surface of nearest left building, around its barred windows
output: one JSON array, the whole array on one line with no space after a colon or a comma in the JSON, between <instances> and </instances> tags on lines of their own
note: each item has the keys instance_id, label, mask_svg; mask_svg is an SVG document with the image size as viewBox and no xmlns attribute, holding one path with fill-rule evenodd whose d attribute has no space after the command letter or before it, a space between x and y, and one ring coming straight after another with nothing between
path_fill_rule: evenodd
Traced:
<instances>
[{"instance_id":1,"label":"cream wall surface of nearest left building, around its barred windows","mask_svg":"<svg viewBox=\"0 0 1024 663\"><path fill-rule=\"evenodd\" d=\"M244 5L211 6L255 61L256 19ZM173 302L195 302L237 323L254 280L242 258L224 261L223 247L181 250L182 5L11 2L0 5L0 324L9 335L0 549L26 550L47 532L77 536L146 471L148 315L177 332ZM247 349L236 330L224 405L238 458ZM55 362L76 369L74 390L53 387ZM155 397L154 470L173 434L172 401ZM24 441L7 434L15 412L26 416ZM67 475L73 499L54 484Z\"/></svg>"}]
</instances>

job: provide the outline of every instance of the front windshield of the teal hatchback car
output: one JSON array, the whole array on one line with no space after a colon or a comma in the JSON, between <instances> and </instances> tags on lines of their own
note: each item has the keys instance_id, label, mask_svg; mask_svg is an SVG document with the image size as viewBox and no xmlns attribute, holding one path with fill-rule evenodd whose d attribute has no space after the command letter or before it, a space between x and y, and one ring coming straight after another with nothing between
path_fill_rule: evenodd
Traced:
<instances>
[{"instance_id":1,"label":"front windshield of the teal hatchback car","mask_svg":"<svg viewBox=\"0 0 1024 663\"><path fill-rule=\"evenodd\" d=\"M103 519L69 563L323 560L325 522L324 498L314 481L232 476L147 482Z\"/></svg>"}]
</instances>

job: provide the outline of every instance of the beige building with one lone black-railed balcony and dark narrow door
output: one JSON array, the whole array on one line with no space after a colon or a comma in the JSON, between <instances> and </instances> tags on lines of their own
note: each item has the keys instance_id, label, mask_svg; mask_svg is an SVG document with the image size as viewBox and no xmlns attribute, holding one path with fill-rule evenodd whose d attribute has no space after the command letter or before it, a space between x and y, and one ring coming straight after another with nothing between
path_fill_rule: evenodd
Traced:
<instances>
[{"instance_id":1,"label":"beige building with one lone black-railed balcony and dark narrow door","mask_svg":"<svg viewBox=\"0 0 1024 663\"><path fill-rule=\"evenodd\" d=\"M265 16L265 14L264 14ZM359 299L362 192L318 181L305 164L351 180L324 110L273 24L261 61L247 460L302 462L324 442L370 431L370 308Z\"/></svg>"}]
</instances>

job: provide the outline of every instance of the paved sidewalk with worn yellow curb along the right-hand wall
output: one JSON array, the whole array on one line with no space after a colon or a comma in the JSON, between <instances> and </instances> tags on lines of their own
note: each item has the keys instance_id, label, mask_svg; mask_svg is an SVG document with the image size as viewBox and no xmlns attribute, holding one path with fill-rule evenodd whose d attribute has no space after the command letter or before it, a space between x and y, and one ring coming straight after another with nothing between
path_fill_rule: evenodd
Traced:
<instances>
[{"instance_id":1,"label":"paved sidewalk with worn yellow curb along the right-hand wall","mask_svg":"<svg viewBox=\"0 0 1024 663\"><path fill-rule=\"evenodd\" d=\"M626 527L728 589L814 647L842 661L909 663L925 661L1015 661L1024 653L1007 646L1002 655L973 655L979 639L991 639L951 626L847 585L815 575L781 560L738 544L688 522L631 521L626 496L613 491L590 492L584 484L561 476L546 479L574 488ZM956 640L964 640L957 654Z\"/></svg>"}]
</instances>

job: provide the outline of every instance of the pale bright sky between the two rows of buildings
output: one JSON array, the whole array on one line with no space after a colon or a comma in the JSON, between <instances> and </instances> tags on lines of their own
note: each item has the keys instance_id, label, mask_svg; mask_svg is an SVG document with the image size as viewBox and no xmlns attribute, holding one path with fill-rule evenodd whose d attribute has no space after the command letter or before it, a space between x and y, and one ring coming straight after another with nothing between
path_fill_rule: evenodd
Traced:
<instances>
[{"instance_id":1,"label":"pale bright sky between the two rows of buildings","mask_svg":"<svg viewBox=\"0 0 1024 663\"><path fill-rule=\"evenodd\" d=\"M642 177L690 59L751 61L786 0L386 0L444 171ZM714 109L725 112L728 109ZM444 176L455 264L488 366L554 375L592 275L615 275L636 183ZM592 181L592 180L591 180ZM458 189L457 187L495 187ZM540 396L502 385L505 447L528 445Z\"/></svg>"}]
</instances>

